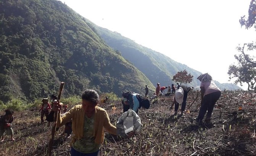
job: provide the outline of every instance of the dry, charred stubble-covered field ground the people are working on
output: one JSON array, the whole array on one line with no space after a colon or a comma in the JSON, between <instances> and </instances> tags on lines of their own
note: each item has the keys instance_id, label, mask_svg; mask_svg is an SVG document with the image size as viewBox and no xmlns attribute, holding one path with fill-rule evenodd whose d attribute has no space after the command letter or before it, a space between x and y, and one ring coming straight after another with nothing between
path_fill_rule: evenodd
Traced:
<instances>
[{"instance_id":1,"label":"dry, charred stubble-covered field ground the people are working on","mask_svg":"<svg viewBox=\"0 0 256 156\"><path fill-rule=\"evenodd\" d=\"M102 154L105 156L171 156L171 155L256 155L256 99L255 93L223 92L216 103L212 124L196 126L193 118L198 115L197 104L184 116L173 116L169 107L172 96L159 98L148 110L139 110L143 127L132 138L120 138L105 133ZM196 92L188 95L187 107L193 102ZM242 106L239 110L238 106ZM120 102L101 105L115 123L122 114ZM180 112L178 112L179 114ZM13 129L15 142L0 143L2 155L45 155L50 128L40 124L40 113L23 111L15 114ZM55 136L53 155L69 155L71 138Z\"/></svg>"}]
</instances>

